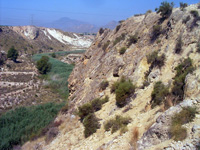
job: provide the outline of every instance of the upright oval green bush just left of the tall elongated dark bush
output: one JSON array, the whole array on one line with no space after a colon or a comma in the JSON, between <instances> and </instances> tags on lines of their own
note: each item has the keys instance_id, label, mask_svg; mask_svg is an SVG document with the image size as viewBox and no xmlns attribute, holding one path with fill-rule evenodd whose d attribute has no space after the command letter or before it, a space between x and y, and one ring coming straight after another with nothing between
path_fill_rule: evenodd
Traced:
<instances>
[{"instance_id":1,"label":"upright oval green bush just left of the tall elongated dark bush","mask_svg":"<svg viewBox=\"0 0 200 150\"><path fill-rule=\"evenodd\" d=\"M168 94L169 89L161 81L156 82L151 93L151 107L162 104Z\"/></svg>"}]
</instances>

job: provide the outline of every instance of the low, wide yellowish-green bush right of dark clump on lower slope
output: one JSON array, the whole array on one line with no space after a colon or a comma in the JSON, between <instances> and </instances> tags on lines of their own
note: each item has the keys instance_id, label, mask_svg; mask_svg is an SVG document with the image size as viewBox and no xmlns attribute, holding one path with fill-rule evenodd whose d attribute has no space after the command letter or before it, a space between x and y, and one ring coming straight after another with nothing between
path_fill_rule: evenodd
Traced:
<instances>
[{"instance_id":1,"label":"low, wide yellowish-green bush right of dark clump on lower slope","mask_svg":"<svg viewBox=\"0 0 200 150\"><path fill-rule=\"evenodd\" d=\"M116 116L115 119L110 119L108 120L105 125L104 125L104 129L106 131L110 131L111 133L116 132L117 130L123 130L125 129L125 127L127 127L127 125L130 123L131 118L129 117L122 117L122 116Z\"/></svg>"}]
</instances>

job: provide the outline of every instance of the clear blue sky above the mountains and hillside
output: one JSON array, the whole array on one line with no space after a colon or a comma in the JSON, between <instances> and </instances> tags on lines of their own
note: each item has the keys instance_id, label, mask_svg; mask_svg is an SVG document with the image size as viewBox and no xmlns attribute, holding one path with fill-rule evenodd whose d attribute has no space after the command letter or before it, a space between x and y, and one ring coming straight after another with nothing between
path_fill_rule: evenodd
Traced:
<instances>
[{"instance_id":1,"label":"clear blue sky above the mountains and hillside","mask_svg":"<svg viewBox=\"0 0 200 150\"><path fill-rule=\"evenodd\" d=\"M103 25L124 20L134 14L154 11L163 0L0 0L0 25L45 23L62 17ZM168 0L168 2L172 2ZM173 0L198 3L199 0Z\"/></svg>"}]
</instances>

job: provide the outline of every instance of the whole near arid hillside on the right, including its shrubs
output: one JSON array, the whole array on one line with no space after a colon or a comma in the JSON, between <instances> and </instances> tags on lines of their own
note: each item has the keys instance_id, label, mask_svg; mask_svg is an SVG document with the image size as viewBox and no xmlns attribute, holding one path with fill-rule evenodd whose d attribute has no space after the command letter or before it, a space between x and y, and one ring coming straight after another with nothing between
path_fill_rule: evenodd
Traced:
<instances>
[{"instance_id":1,"label":"whole near arid hillside on the right, including its shrubs","mask_svg":"<svg viewBox=\"0 0 200 150\"><path fill-rule=\"evenodd\" d=\"M101 29L70 75L58 132L22 149L199 149L199 8L148 11Z\"/></svg>"}]
</instances>

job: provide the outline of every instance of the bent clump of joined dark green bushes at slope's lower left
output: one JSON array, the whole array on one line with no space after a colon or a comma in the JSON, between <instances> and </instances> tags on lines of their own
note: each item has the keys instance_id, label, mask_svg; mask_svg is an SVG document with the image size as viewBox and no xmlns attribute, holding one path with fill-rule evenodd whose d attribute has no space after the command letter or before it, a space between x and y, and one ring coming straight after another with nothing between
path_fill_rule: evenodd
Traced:
<instances>
[{"instance_id":1,"label":"bent clump of joined dark green bushes at slope's lower left","mask_svg":"<svg viewBox=\"0 0 200 150\"><path fill-rule=\"evenodd\" d=\"M89 103L86 103L78 108L78 116L84 125L84 135L89 137L100 127L99 120L96 118L94 112L101 109L102 105L108 102L108 96L103 99L96 98Z\"/></svg>"}]
</instances>

